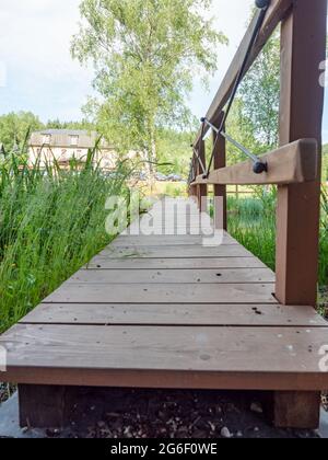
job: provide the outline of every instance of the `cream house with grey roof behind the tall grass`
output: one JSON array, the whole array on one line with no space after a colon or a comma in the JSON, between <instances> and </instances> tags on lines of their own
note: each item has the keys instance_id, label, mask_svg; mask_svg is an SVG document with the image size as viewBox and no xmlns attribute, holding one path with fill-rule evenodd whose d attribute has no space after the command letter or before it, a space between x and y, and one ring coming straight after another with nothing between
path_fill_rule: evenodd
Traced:
<instances>
[{"instance_id":1,"label":"cream house with grey roof behind the tall grass","mask_svg":"<svg viewBox=\"0 0 328 460\"><path fill-rule=\"evenodd\" d=\"M40 168L54 165L69 168L75 160L83 164L87 159L89 149L95 148L99 135L96 131L77 129L45 129L32 134L28 142L28 163L33 166L39 161ZM103 170L115 169L117 154L112 146L101 140L94 156L94 163Z\"/></svg>"}]
</instances>

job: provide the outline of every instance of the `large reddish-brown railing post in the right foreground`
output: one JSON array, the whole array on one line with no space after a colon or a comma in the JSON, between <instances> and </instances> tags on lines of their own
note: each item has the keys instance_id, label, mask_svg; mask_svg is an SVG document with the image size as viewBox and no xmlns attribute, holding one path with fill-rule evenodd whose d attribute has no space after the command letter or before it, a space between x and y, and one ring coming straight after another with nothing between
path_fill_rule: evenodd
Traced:
<instances>
[{"instance_id":1,"label":"large reddish-brown railing post in the right foreground","mask_svg":"<svg viewBox=\"0 0 328 460\"><path fill-rule=\"evenodd\" d=\"M281 145L301 138L321 145L326 13L327 0L297 0L282 22ZM283 304L316 304L319 209L320 175L316 182L279 187L276 292Z\"/></svg>"}]
</instances>

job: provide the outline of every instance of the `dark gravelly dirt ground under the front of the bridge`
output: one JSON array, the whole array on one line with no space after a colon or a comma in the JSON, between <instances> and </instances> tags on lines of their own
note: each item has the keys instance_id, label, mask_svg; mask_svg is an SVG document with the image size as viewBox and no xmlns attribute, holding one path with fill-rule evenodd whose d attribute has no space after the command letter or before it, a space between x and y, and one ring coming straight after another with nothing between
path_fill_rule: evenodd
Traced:
<instances>
[{"instance_id":1,"label":"dark gravelly dirt ground under the front of the bridge","mask_svg":"<svg viewBox=\"0 0 328 460\"><path fill-rule=\"evenodd\" d=\"M81 389L70 427L57 438L316 438L314 432L273 428L258 393ZM85 401L87 403L85 404Z\"/></svg>"}]
</instances>

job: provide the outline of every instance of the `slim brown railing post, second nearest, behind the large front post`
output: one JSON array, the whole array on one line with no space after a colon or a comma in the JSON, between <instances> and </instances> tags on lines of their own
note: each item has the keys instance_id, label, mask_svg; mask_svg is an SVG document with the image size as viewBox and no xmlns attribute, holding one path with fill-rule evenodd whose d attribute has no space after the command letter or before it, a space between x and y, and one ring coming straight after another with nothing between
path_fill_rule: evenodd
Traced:
<instances>
[{"instance_id":1,"label":"slim brown railing post, second nearest, behind the large front post","mask_svg":"<svg viewBox=\"0 0 328 460\"><path fill-rule=\"evenodd\" d=\"M222 113L214 125L220 126L224 114ZM225 128L225 127L224 127ZM223 136L220 136L215 143L216 134L213 133L213 148L214 148L214 170L225 168L226 165L226 142ZM215 229L227 229L226 219L226 186L214 185L214 226Z\"/></svg>"}]
</instances>

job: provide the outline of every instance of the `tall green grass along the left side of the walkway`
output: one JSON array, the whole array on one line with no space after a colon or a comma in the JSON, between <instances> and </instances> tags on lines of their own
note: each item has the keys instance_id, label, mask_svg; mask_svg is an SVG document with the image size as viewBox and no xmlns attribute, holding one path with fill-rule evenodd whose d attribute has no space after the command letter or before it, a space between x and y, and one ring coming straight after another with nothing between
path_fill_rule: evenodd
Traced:
<instances>
[{"instance_id":1,"label":"tall green grass along the left side of the walkway","mask_svg":"<svg viewBox=\"0 0 328 460\"><path fill-rule=\"evenodd\" d=\"M126 196L124 164L110 179L93 154L69 171L28 168L11 156L0 165L0 331L20 320L110 241L108 196Z\"/></svg>"}]
</instances>

